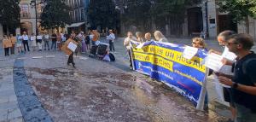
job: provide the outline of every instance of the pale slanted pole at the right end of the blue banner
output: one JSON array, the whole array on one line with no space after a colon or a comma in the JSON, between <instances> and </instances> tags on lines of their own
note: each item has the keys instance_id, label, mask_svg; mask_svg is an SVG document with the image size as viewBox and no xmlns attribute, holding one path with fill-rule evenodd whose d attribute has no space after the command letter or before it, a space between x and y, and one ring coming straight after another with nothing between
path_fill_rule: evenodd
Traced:
<instances>
[{"instance_id":1,"label":"pale slanted pole at the right end of the blue banner","mask_svg":"<svg viewBox=\"0 0 256 122\"><path fill-rule=\"evenodd\" d=\"M202 88L201 88L201 93L199 96L199 100L196 106L196 109L203 111L204 109L204 103L205 103L205 98L206 98L206 94L207 94L207 78L208 78L208 74L209 74L209 68L207 68L206 71L206 77L204 78L204 82L202 84Z\"/></svg>"}]
</instances>

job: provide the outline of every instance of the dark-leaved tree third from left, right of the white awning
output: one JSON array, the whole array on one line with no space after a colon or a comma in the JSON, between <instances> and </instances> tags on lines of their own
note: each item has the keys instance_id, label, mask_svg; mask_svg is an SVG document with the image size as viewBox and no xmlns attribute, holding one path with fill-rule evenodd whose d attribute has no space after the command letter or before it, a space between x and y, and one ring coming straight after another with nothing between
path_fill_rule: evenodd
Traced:
<instances>
[{"instance_id":1,"label":"dark-leaved tree third from left, right of the white awning","mask_svg":"<svg viewBox=\"0 0 256 122\"><path fill-rule=\"evenodd\" d=\"M90 23L93 27L116 28L117 10L113 0L91 0L88 9Z\"/></svg>"}]
</instances>

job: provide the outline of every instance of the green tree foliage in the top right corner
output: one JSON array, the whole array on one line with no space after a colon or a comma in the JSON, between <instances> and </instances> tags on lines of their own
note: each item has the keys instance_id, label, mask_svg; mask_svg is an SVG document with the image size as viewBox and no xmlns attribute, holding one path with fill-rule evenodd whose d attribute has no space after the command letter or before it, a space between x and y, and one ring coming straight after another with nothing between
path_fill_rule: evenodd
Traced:
<instances>
[{"instance_id":1,"label":"green tree foliage in the top right corner","mask_svg":"<svg viewBox=\"0 0 256 122\"><path fill-rule=\"evenodd\" d=\"M235 22L245 21L249 33L249 17L256 19L256 0L219 0L218 6L220 12L234 16Z\"/></svg>"}]
</instances>

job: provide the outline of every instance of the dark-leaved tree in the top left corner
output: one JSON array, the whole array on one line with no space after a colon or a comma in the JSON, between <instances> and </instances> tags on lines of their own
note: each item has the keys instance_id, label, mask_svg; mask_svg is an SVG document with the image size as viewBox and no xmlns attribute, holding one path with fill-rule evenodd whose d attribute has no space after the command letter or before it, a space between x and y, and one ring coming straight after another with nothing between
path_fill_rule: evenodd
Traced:
<instances>
[{"instance_id":1,"label":"dark-leaved tree in the top left corner","mask_svg":"<svg viewBox=\"0 0 256 122\"><path fill-rule=\"evenodd\" d=\"M7 29L20 26L19 3L20 0L0 0L0 23Z\"/></svg>"}]
</instances>

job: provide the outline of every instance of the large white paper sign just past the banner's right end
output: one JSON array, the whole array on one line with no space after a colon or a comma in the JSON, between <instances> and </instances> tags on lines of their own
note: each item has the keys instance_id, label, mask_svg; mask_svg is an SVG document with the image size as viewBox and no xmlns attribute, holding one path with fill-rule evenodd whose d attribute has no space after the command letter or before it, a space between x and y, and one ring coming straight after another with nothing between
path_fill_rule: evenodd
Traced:
<instances>
[{"instance_id":1,"label":"large white paper sign just past the banner's right end","mask_svg":"<svg viewBox=\"0 0 256 122\"><path fill-rule=\"evenodd\" d=\"M205 58L205 66L212 69L215 72L218 72L221 67L224 66L224 64L221 62L222 60L221 55L217 55L214 53L208 54Z\"/></svg>"}]
</instances>

